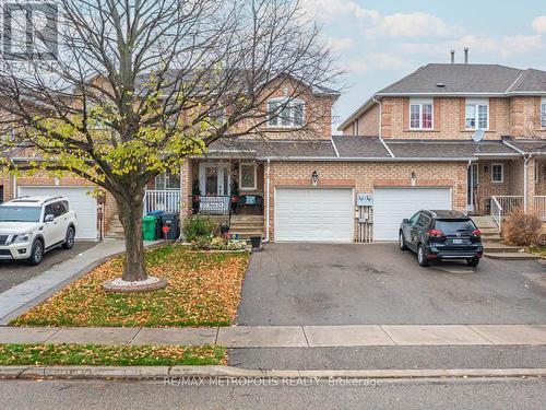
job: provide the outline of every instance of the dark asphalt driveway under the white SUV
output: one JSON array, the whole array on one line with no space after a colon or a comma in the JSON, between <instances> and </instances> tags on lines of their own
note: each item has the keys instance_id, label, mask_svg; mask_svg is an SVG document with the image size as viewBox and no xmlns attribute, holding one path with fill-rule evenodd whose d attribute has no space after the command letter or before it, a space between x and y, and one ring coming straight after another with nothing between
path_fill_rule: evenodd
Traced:
<instances>
[{"instance_id":1,"label":"dark asphalt driveway under the white SUV","mask_svg":"<svg viewBox=\"0 0 546 410\"><path fill-rule=\"evenodd\" d=\"M97 242L76 241L74 247L70 250L63 248L51 249L44 255L44 260L38 266L28 266L24 260L0 261L0 292L7 291L28 279L32 279L56 265L70 259L84 250L95 246Z\"/></svg>"}]
</instances>

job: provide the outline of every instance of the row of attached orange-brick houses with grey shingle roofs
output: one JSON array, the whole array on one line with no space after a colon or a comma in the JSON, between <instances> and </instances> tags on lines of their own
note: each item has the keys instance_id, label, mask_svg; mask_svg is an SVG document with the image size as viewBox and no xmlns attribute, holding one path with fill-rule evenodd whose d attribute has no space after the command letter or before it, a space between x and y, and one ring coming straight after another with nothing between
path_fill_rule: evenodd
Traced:
<instances>
[{"instance_id":1,"label":"row of attached orange-brick houses with grey shingle roofs","mask_svg":"<svg viewBox=\"0 0 546 410\"><path fill-rule=\"evenodd\" d=\"M274 113L285 94L278 87L263 109ZM546 218L546 72L428 65L377 92L332 136L337 97L308 90L260 137L214 142L151 181L144 211L209 214L241 237L323 243L395 241L402 219L423 208L497 223L515 208ZM312 131L297 132L308 121ZM74 178L15 179L3 180L7 198L45 189L83 203L88 189ZM93 200L85 196L90 211ZM104 207L108 231L108 196Z\"/></svg>"}]
</instances>

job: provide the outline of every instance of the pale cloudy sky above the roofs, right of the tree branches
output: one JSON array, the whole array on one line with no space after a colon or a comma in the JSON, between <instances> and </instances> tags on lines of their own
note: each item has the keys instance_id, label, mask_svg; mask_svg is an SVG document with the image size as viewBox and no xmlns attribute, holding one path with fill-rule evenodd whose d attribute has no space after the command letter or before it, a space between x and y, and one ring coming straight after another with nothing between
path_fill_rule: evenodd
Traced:
<instances>
[{"instance_id":1,"label":"pale cloudy sky above the roofs, right of the tree branches","mask_svg":"<svg viewBox=\"0 0 546 410\"><path fill-rule=\"evenodd\" d=\"M429 62L546 70L545 0L301 0L337 56L337 126L375 92Z\"/></svg>"}]
</instances>

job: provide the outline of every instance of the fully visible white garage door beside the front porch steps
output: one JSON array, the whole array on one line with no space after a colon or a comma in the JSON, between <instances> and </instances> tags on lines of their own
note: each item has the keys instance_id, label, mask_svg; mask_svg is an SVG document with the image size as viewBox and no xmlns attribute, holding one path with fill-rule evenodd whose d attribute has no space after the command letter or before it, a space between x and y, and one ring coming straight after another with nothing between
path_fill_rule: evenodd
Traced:
<instances>
[{"instance_id":1,"label":"fully visible white garage door beside the front porch steps","mask_svg":"<svg viewBox=\"0 0 546 410\"><path fill-rule=\"evenodd\" d=\"M353 189L275 189L276 242L353 242Z\"/></svg>"}]
</instances>

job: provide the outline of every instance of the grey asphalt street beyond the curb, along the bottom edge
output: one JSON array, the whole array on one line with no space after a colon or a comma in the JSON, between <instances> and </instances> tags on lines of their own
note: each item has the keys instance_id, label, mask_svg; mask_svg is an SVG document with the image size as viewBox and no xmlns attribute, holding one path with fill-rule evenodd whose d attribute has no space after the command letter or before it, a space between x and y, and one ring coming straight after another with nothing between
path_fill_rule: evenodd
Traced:
<instances>
[{"instance_id":1,"label":"grey asphalt street beyond the curb, along the bottom edge","mask_svg":"<svg viewBox=\"0 0 546 410\"><path fill-rule=\"evenodd\" d=\"M277 380L282 383L282 380ZM312 382L310 382L312 383ZM163 382L0 382L2 409L544 409L543 379L385 382L360 386L165 386Z\"/></svg>"}]
</instances>

